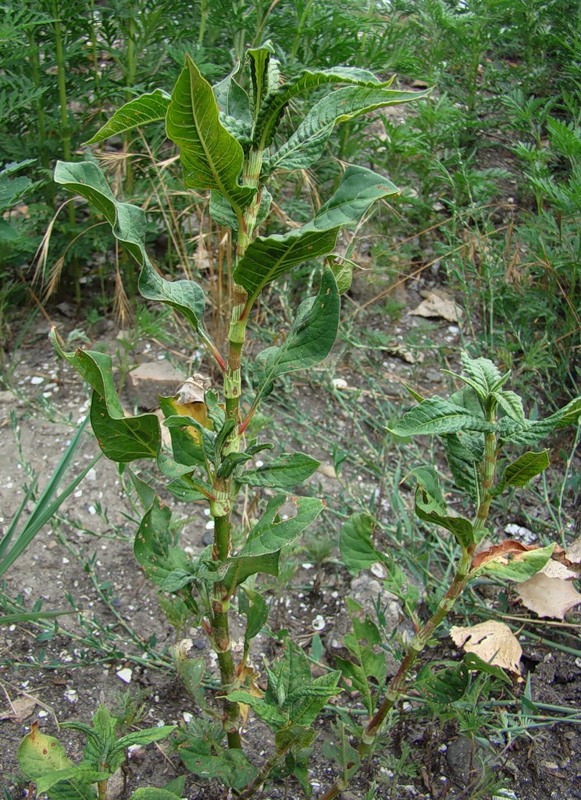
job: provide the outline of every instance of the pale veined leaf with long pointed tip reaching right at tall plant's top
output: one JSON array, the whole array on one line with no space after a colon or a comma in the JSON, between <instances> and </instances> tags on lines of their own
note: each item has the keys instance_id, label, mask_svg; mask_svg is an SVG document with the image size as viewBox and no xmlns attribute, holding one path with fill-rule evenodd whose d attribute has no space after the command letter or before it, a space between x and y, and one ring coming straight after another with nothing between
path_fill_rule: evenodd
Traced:
<instances>
[{"instance_id":1,"label":"pale veined leaf with long pointed tip reaching right at tall plant's top","mask_svg":"<svg viewBox=\"0 0 581 800\"><path fill-rule=\"evenodd\" d=\"M344 86L311 108L293 135L268 160L270 170L308 169L321 156L333 128L385 106L408 103L428 92L404 92L379 86Z\"/></svg>"}]
</instances>

